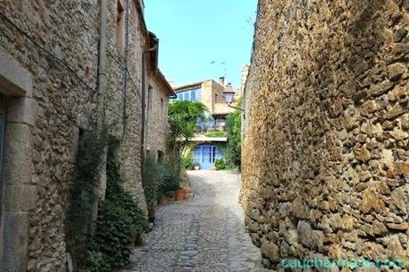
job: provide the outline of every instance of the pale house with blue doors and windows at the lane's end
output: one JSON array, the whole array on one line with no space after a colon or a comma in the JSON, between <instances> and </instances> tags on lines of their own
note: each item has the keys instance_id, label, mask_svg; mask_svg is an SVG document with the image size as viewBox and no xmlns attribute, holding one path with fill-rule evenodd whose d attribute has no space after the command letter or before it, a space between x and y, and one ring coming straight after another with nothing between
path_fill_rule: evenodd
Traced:
<instances>
[{"instance_id":1,"label":"pale house with blue doors and windows at the lane's end","mask_svg":"<svg viewBox=\"0 0 409 272\"><path fill-rule=\"evenodd\" d=\"M229 107L226 97L230 95L236 103L239 92L234 91L231 84L225 84L224 80L221 77L219 83L210 79L174 88L177 94L175 100L200 101L208 109L208 119L198 120L196 135L190 140L193 143L193 162L199 164L201 169L212 169L216 159L224 158L218 145L226 145L227 135L214 137L208 134L225 132L226 116L235 111Z\"/></svg>"}]
</instances>

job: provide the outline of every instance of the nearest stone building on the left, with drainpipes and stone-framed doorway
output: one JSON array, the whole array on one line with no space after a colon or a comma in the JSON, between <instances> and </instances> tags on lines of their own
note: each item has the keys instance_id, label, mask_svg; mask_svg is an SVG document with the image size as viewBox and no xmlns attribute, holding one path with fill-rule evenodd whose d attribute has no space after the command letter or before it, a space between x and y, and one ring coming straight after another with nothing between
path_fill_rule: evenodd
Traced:
<instances>
[{"instance_id":1,"label":"nearest stone building on the left, with drainpipes and stone-framed doorway","mask_svg":"<svg viewBox=\"0 0 409 272\"><path fill-rule=\"evenodd\" d=\"M143 2L1 1L0 12L0 270L65 271L77 141L99 121L120 142L124 185L146 212Z\"/></svg>"}]
</instances>

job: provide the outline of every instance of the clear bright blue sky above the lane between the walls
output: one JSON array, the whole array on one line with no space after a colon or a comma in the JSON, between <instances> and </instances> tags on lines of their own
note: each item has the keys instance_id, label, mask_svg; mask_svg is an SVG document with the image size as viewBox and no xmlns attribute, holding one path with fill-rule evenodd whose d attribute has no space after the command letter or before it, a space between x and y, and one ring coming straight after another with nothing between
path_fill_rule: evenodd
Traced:
<instances>
[{"instance_id":1,"label":"clear bright blue sky above the lane between the walls","mask_svg":"<svg viewBox=\"0 0 409 272\"><path fill-rule=\"evenodd\" d=\"M235 89L250 63L257 0L144 0L159 38L159 68L176 85L227 76Z\"/></svg>"}]
</instances>

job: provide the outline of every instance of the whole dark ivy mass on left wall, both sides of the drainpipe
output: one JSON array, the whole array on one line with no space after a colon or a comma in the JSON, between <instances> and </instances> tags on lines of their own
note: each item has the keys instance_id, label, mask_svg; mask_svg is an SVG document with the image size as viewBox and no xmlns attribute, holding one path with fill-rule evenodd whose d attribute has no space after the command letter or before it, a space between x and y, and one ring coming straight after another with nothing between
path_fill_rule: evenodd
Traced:
<instances>
[{"instance_id":1,"label":"whole dark ivy mass on left wall, both sides of the drainpipe","mask_svg":"<svg viewBox=\"0 0 409 272\"><path fill-rule=\"evenodd\" d=\"M123 188L114 142L105 132L86 131L80 135L76 167L72 174L66 233L76 271L111 271L129 262L130 245L148 228L137 202ZM96 212L98 186L107 150L107 189Z\"/></svg>"}]
</instances>

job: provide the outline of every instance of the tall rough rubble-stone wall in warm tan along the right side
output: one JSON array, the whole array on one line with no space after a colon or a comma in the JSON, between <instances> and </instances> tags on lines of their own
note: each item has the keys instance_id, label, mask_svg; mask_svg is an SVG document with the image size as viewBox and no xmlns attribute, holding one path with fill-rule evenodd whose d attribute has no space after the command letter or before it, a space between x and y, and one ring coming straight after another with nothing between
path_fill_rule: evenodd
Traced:
<instances>
[{"instance_id":1,"label":"tall rough rubble-stone wall in warm tan along the right side","mask_svg":"<svg viewBox=\"0 0 409 272\"><path fill-rule=\"evenodd\" d=\"M409 268L408 11L259 1L241 200L266 267L317 257Z\"/></svg>"}]
</instances>

